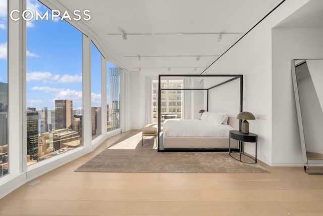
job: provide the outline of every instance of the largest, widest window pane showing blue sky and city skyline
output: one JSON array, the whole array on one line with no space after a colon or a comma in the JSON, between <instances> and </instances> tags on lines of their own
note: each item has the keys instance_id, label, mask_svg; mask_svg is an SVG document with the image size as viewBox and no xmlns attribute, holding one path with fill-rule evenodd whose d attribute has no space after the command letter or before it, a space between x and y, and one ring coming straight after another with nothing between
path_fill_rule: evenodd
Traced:
<instances>
[{"instance_id":1,"label":"largest, widest window pane showing blue sky and city skyline","mask_svg":"<svg viewBox=\"0 0 323 216\"><path fill-rule=\"evenodd\" d=\"M27 164L82 145L82 33L38 1L27 9ZM47 19L47 20L46 20Z\"/></svg>"}]
</instances>

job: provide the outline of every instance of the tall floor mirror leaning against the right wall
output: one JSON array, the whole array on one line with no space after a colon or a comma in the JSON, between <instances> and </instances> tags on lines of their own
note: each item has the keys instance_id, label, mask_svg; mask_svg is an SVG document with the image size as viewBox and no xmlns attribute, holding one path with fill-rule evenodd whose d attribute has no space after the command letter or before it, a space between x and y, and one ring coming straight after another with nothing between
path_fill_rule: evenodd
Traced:
<instances>
[{"instance_id":1,"label":"tall floor mirror leaning against the right wall","mask_svg":"<svg viewBox=\"0 0 323 216\"><path fill-rule=\"evenodd\" d=\"M291 61L304 170L323 174L323 59Z\"/></svg>"}]
</instances>

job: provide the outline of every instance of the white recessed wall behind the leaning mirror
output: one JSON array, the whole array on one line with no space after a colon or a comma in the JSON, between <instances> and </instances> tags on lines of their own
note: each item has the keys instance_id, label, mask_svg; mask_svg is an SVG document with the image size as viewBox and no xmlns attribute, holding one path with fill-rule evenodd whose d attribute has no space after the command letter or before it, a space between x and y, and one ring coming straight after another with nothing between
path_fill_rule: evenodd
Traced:
<instances>
[{"instance_id":1,"label":"white recessed wall behind the leaning mirror","mask_svg":"<svg viewBox=\"0 0 323 216\"><path fill-rule=\"evenodd\" d=\"M290 61L323 58L323 29L273 29L273 165L303 164Z\"/></svg>"}]
</instances>

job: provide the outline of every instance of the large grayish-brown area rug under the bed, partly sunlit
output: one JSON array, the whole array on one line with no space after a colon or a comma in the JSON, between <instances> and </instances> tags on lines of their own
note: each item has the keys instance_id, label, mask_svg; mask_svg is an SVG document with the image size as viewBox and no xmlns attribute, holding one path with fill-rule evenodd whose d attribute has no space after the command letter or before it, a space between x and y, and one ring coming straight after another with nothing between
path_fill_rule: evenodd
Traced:
<instances>
[{"instance_id":1,"label":"large grayish-brown area rug under the bed, partly sunlit","mask_svg":"<svg viewBox=\"0 0 323 216\"><path fill-rule=\"evenodd\" d=\"M75 171L270 173L259 164L237 161L228 152L157 152L154 137L146 137L143 146L141 138L141 131L132 130Z\"/></svg>"}]
</instances>

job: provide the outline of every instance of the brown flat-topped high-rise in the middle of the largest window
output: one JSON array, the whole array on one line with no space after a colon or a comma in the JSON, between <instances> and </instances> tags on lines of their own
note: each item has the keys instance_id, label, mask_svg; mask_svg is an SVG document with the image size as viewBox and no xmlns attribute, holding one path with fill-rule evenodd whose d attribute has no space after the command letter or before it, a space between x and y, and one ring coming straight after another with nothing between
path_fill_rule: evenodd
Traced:
<instances>
[{"instance_id":1,"label":"brown flat-topped high-rise in the middle of the largest window","mask_svg":"<svg viewBox=\"0 0 323 216\"><path fill-rule=\"evenodd\" d=\"M55 129L73 127L73 101L55 100Z\"/></svg>"}]
</instances>

